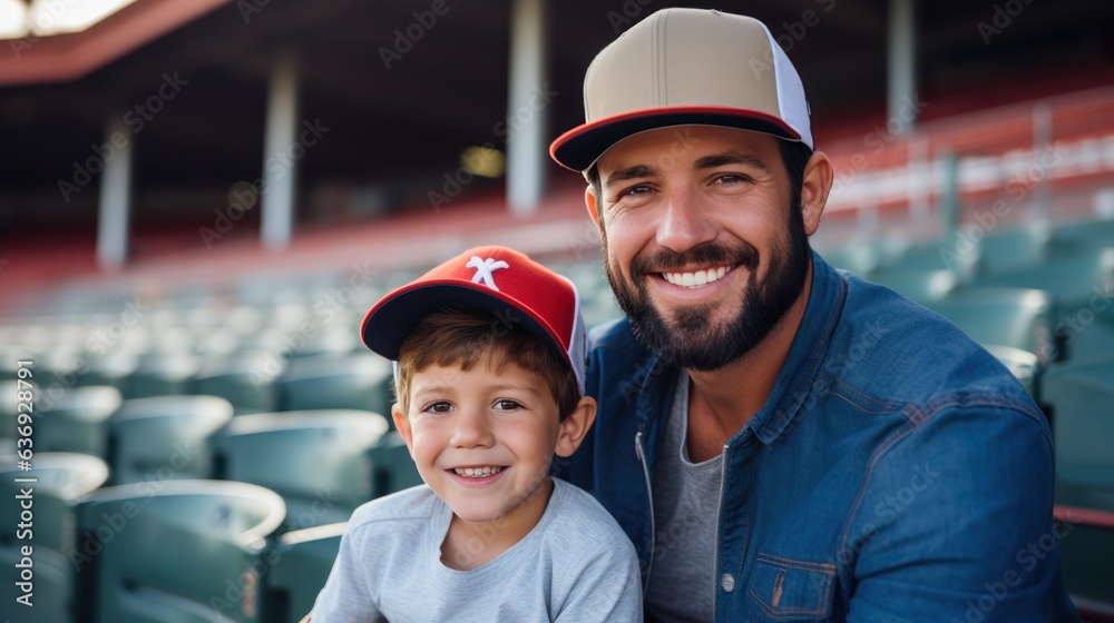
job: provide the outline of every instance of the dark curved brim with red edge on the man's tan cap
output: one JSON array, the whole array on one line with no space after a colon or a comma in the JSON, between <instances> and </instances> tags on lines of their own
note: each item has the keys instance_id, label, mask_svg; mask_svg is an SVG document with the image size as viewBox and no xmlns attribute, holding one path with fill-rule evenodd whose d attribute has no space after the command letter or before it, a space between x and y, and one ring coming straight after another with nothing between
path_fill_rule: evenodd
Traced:
<instances>
[{"instance_id":1,"label":"dark curved brim with red edge on the man's tan cap","mask_svg":"<svg viewBox=\"0 0 1114 623\"><path fill-rule=\"evenodd\" d=\"M549 146L549 156L566 169L584 171L604 151L628 136L657 128L690 125L724 126L789 140L801 140L801 135L784 121L756 110L691 106L648 108L577 126L553 141Z\"/></svg>"}]
</instances>

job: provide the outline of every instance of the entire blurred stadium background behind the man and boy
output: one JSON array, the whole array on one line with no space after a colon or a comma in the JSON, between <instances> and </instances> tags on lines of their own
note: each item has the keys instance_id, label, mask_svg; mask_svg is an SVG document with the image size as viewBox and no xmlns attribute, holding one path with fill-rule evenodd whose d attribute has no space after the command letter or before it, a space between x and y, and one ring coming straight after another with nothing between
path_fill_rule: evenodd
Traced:
<instances>
[{"instance_id":1,"label":"entire blurred stadium background behind the man and boy","mask_svg":"<svg viewBox=\"0 0 1114 623\"><path fill-rule=\"evenodd\" d=\"M418 482L358 338L379 296L497 243L618 315L547 150L666 6L0 0L0 612L305 614L352 508ZM762 20L799 69L837 166L814 248L1045 409L1065 577L1114 620L1114 4L674 6Z\"/></svg>"}]
</instances>

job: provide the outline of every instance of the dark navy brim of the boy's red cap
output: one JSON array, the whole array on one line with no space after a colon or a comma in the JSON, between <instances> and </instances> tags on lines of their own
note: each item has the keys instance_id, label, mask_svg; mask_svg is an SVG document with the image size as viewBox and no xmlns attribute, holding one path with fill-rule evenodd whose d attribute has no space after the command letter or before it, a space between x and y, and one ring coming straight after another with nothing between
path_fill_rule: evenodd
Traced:
<instances>
[{"instance_id":1,"label":"dark navy brim of the boy's red cap","mask_svg":"<svg viewBox=\"0 0 1114 623\"><path fill-rule=\"evenodd\" d=\"M492 330L506 332L521 326L548 344L568 364L568 350L557 333L526 305L485 285L452 279L403 286L383 297L364 316L360 335L368 348L388 359L398 360L402 342L422 319L447 309L490 312Z\"/></svg>"}]
</instances>

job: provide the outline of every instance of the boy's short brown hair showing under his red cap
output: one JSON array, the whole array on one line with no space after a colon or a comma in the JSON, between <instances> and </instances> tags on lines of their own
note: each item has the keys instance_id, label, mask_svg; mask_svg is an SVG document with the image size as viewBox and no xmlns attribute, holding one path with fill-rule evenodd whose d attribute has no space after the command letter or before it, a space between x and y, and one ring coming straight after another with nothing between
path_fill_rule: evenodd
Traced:
<instances>
[{"instance_id":1,"label":"boy's short brown hair showing under his red cap","mask_svg":"<svg viewBox=\"0 0 1114 623\"><path fill-rule=\"evenodd\" d=\"M507 364L537 374L548 386L564 422L580 400L576 376L534 334L520 326L507 326L494 314L447 309L430 314L402 342L394 396L402 413L410 409L410 379L431 365L460 366L470 370L491 356L496 372Z\"/></svg>"}]
</instances>

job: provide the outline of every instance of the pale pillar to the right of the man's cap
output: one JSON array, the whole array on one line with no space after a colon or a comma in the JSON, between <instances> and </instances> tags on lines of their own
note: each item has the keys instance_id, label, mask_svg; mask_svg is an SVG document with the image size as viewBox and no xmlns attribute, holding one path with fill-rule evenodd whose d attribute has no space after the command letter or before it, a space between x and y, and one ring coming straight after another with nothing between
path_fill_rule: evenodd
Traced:
<instances>
[{"instance_id":1,"label":"pale pillar to the right of the man's cap","mask_svg":"<svg viewBox=\"0 0 1114 623\"><path fill-rule=\"evenodd\" d=\"M887 41L886 99L892 126L907 132L917 115L917 23L916 0L890 0Z\"/></svg>"}]
</instances>

